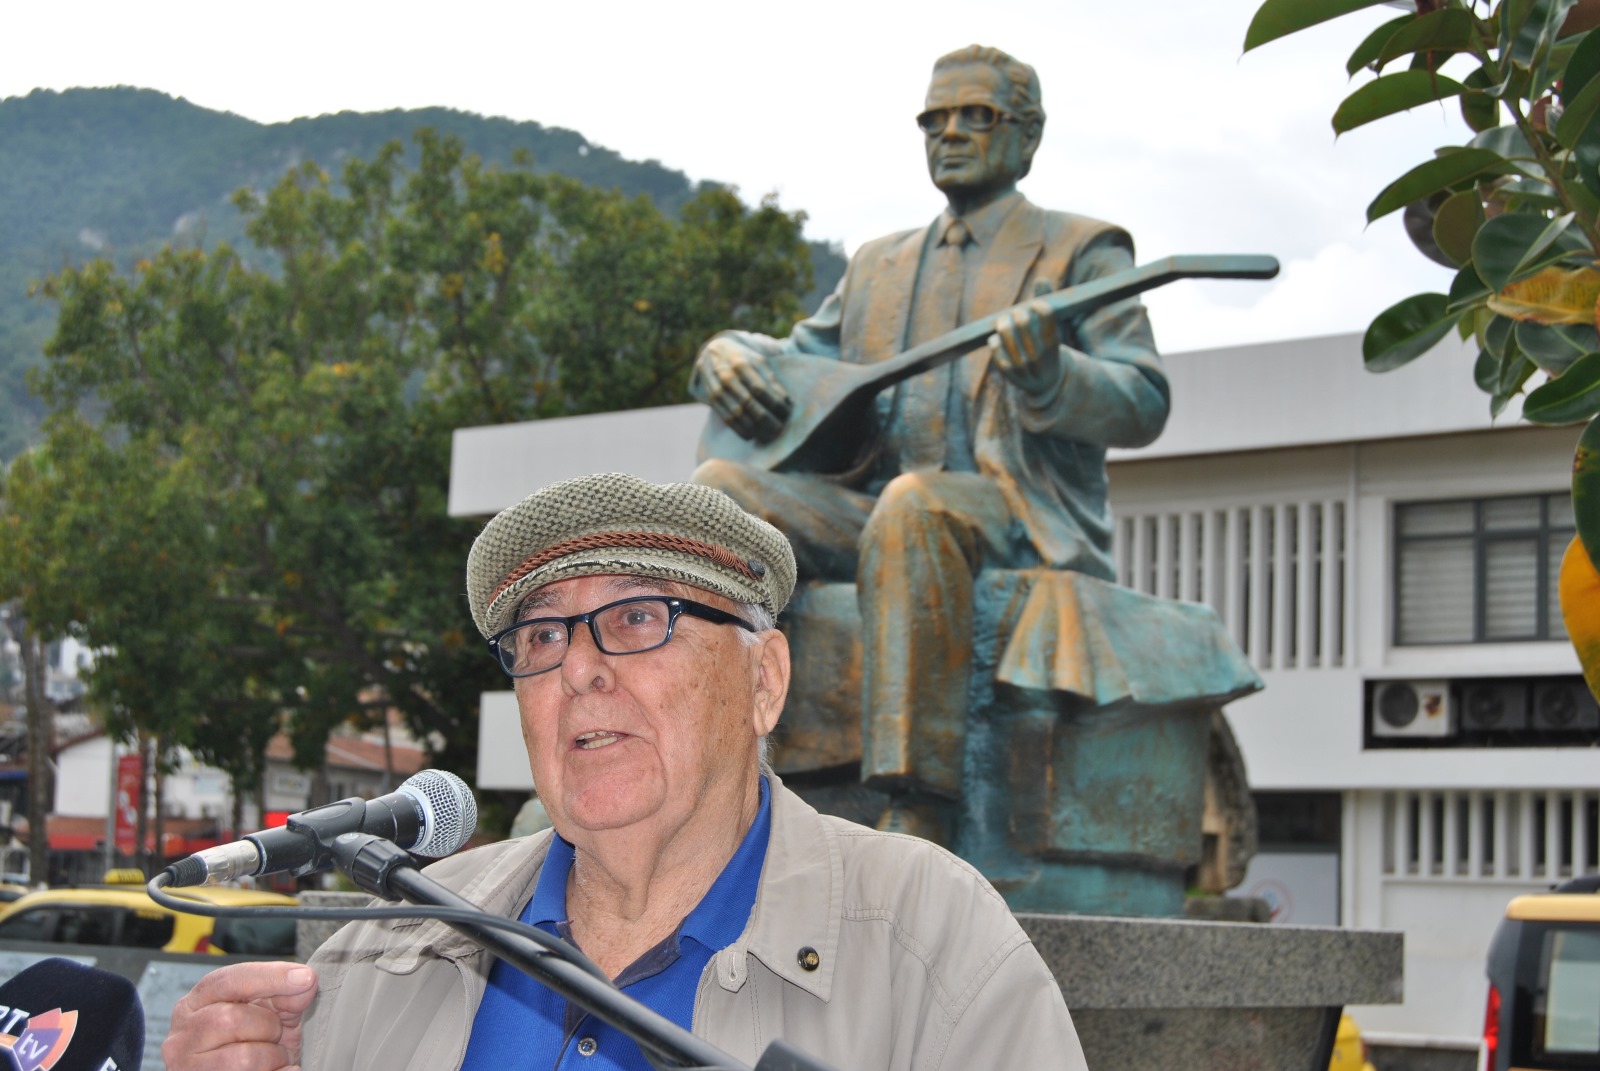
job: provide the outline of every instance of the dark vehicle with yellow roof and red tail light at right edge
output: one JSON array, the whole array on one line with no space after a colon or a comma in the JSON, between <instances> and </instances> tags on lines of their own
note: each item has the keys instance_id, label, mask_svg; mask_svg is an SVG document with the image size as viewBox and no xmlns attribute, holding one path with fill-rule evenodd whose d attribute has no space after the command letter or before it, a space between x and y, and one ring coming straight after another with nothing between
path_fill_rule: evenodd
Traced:
<instances>
[{"instance_id":1,"label":"dark vehicle with yellow roof and red tail light at right edge","mask_svg":"<svg viewBox=\"0 0 1600 1071\"><path fill-rule=\"evenodd\" d=\"M1517 897L1490 943L1485 1071L1600 1068L1600 877Z\"/></svg>"}]
</instances>

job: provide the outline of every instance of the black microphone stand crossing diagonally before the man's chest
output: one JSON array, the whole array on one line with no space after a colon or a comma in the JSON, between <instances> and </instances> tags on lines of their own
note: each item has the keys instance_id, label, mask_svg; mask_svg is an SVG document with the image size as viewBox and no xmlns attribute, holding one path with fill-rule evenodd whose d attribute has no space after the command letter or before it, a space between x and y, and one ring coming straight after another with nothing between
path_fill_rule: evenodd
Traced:
<instances>
[{"instance_id":1,"label":"black microphone stand crossing diagonally before the man's chest","mask_svg":"<svg viewBox=\"0 0 1600 1071\"><path fill-rule=\"evenodd\" d=\"M346 832L334 837L328 848L339 869L374 897L482 914L477 905L418 869L416 860L392 840L370 832ZM734 1060L717 1045L645 1007L610 981L602 980L600 975L590 973L579 964L563 959L525 937L466 922L448 922L448 925L566 1001L578 1004L595 1018L627 1034L658 1066L694 1068L698 1071L752 1071L749 1065ZM787 1042L774 1041L762 1053L754 1071L834 1069Z\"/></svg>"}]
</instances>

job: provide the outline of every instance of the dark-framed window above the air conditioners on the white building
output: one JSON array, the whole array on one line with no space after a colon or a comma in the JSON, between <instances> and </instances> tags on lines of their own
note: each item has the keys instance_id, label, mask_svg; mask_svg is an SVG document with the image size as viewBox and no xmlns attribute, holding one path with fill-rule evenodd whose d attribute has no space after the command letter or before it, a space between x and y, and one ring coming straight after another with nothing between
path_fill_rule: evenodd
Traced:
<instances>
[{"instance_id":1,"label":"dark-framed window above the air conditioners on the white building","mask_svg":"<svg viewBox=\"0 0 1600 1071\"><path fill-rule=\"evenodd\" d=\"M1568 493L1395 506L1395 644L1563 640Z\"/></svg>"}]
</instances>

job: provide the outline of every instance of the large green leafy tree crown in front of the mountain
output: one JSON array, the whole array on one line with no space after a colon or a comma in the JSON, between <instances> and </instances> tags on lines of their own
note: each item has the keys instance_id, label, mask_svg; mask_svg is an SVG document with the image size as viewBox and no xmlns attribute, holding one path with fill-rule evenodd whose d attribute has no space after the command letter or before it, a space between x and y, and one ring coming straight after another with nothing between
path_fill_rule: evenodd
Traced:
<instances>
[{"instance_id":1,"label":"large green leafy tree crown in front of the mountain","mask_svg":"<svg viewBox=\"0 0 1600 1071\"><path fill-rule=\"evenodd\" d=\"M310 767L390 706L470 770L499 684L461 597L453 429L682 402L701 339L781 333L810 285L774 203L702 187L667 216L416 141L414 168L390 142L242 191L248 247L42 287L50 419L0 488L0 597L102 652L120 727L246 784L280 722Z\"/></svg>"}]
</instances>

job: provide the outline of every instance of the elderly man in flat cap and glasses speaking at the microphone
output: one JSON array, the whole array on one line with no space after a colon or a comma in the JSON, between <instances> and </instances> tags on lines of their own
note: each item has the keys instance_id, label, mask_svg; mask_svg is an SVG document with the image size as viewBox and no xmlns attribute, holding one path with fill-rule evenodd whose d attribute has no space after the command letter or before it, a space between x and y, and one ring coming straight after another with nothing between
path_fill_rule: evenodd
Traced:
<instances>
[{"instance_id":1,"label":"elderly man in flat cap and glasses speaking at the microphone","mask_svg":"<svg viewBox=\"0 0 1600 1071\"><path fill-rule=\"evenodd\" d=\"M818 815L763 765L794 580L784 536L707 487L594 475L494 517L467 596L554 831L429 874L749 1063L782 1037L840 1071L1082 1068L1059 988L979 874ZM435 922L216 970L163 1052L174 1071L648 1066Z\"/></svg>"}]
</instances>

